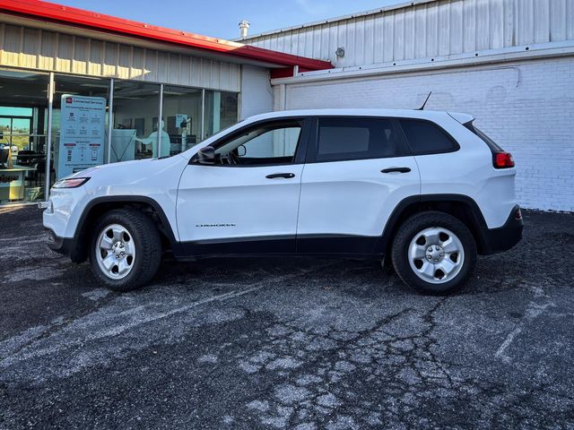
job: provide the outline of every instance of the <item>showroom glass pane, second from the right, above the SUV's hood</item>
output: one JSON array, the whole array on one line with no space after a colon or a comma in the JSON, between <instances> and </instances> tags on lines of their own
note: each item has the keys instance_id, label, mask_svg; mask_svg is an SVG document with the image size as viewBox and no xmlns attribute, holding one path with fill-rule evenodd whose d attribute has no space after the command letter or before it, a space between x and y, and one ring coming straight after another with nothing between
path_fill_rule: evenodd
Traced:
<instances>
[{"instance_id":1,"label":"showroom glass pane, second from the right, above the SUV's hood","mask_svg":"<svg viewBox=\"0 0 574 430\"><path fill-rule=\"evenodd\" d=\"M178 154L199 142L201 106L202 90L167 85L163 87L162 116L170 140L170 154L163 155Z\"/></svg>"}]
</instances>

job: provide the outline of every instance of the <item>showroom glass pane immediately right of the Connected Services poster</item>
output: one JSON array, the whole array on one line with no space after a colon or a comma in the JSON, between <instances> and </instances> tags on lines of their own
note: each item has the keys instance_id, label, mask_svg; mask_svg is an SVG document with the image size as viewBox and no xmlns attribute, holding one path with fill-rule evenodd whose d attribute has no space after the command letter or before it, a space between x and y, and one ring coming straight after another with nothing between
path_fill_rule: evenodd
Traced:
<instances>
[{"instance_id":1,"label":"showroom glass pane immediately right of the Connected Services poster","mask_svg":"<svg viewBox=\"0 0 574 430\"><path fill-rule=\"evenodd\" d=\"M160 89L154 83L114 81L110 162L170 155L167 125L158 124Z\"/></svg>"}]
</instances>

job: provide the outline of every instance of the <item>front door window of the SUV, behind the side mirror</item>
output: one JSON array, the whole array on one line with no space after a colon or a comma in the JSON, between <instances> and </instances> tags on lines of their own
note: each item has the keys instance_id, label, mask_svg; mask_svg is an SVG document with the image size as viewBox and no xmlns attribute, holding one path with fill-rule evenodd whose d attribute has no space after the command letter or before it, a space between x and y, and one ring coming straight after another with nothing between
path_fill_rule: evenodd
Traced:
<instances>
[{"instance_id":1,"label":"front door window of the SUV, behind the side mirror","mask_svg":"<svg viewBox=\"0 0 574 430\"><path fill-rule=\"evenodd\" d=\"M301 135L300 121L258 125L215 149L222 164L268 166L291 164Z\"/></svg>"}]
</instances>

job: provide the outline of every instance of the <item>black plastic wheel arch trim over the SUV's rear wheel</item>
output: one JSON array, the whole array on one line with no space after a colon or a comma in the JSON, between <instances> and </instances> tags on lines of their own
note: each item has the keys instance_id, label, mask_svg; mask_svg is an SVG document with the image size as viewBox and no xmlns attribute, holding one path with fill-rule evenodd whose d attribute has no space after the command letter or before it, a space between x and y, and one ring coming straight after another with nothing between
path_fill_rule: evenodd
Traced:
<instances>
[{"instance_id":1,"label":"black plastic wheel arch trim over the SUV's rear wheel","mask_svg":"<svg viewBox=\"0 0 574 430\"><path fill-rule=\"evenodd\" d=\"M378 238L375 254L388 255L397 229L406 219L422 211L445 212L459 219L474 236L478 253L486 252L485 231L488 228L483 212L472 198L463 194L423 194L407 197L396 205L383 234Z\"/></svg>"}]
</instances>

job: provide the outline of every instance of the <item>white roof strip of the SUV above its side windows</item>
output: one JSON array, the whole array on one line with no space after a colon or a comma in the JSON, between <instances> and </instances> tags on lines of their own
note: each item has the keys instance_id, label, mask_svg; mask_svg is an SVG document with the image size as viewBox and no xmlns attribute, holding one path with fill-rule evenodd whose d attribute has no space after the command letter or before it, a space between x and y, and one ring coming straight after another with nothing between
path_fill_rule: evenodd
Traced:
<instances>
[{"instance_id":1,"label":"white roof strip of the SUV above its side windows","mask_svg":"<svg viewBox=\"0 0 574 430\"><path fill-rule=\"evenodd\" d=\"M474 119L473 116L459 113L449 113L440 110L413 110L413 109L300 109L300 110L281 110L269 112L248 118L248 122L259 121L263 119L297 117L297 116L386 116L400 118L429 119L438 121L448 116L454 117L457 121L459 118L465 118L465 122Z\"/></svg>"}]
</instances>

